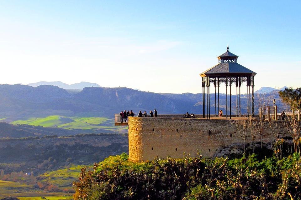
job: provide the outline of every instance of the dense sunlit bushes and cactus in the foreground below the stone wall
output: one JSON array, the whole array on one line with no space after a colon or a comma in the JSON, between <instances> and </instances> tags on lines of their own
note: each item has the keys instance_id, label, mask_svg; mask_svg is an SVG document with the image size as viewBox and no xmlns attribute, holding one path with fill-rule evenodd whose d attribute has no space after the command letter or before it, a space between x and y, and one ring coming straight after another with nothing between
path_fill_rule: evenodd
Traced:
<instances>
[{"instance_id":1,"label":"dense sunlit bushes and cactus in the foreground below the stone wall","mask_svg":"<svg viewBox=\"0 0 301 200\"><path fill-rule=\"evenodd\" d=\"M123 153L82 169L75 200L97 199L300 199L301 161L255 154L227 158L167 158L133 163Z\"/></svg>"}]
</instances>

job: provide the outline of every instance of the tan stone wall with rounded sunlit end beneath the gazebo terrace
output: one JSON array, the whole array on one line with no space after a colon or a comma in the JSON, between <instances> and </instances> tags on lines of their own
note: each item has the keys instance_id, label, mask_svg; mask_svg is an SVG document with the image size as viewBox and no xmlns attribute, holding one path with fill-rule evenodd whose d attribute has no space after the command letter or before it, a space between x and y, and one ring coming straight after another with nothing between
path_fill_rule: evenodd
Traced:
<instances>
[{"instance_id":1,"label":"tan stone wall with rounded sunlit end beneath the gazebo terrace","mask_svg":"<svg viewBox=\"0 0 301 200\"><path fill-rule=\"evenodd\" d=\"M273 122L284 137L285 123ZM273 141L274 133L266 122L263 126L263 143ZM250 133L246 143L251 143ZM261 141L257 134L255 141ZM221 146L243 143L238 134L234 120L224 119L191 119L191 118L138 118L129 117L129 159L133 161L158 158L181 158L183 153L203 157L212 157Z\"/></svg>"}]
</instances>

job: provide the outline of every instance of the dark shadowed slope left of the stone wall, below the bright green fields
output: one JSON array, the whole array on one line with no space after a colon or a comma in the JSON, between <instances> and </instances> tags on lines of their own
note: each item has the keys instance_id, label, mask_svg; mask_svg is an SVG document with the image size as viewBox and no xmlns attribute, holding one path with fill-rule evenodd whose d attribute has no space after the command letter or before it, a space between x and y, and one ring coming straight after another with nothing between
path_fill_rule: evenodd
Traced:
<instances>
[{"instance_id":1,"label":"dark shadowed slope left of the stone wall, below the bright green fields","mask_svg":"<svg viewBox=\"0 0 301 200\"><path fill-rule=\"evenodd\" d=\"M0 139L0 169L5 174L24 170L37 175L71 162L92 165L110 155L128 152L128 149L127 135L121 134Z\"/></svg>"}]
</instances>

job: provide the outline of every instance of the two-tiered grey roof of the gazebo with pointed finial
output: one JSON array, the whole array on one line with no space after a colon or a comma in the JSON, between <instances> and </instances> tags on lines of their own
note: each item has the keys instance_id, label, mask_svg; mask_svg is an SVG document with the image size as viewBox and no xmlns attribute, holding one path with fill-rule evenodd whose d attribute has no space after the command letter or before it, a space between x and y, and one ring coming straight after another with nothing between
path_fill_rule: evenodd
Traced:
<instances>
[{"instance_id":1,"label":"two-tiered grey roof of the gazebo with pointed finial","mask_svg":"<svg viewBox=\"0 0 301 200\"><path fill-rule=\"evenodd\" d=\"M255 76L256 73L252 70L237 63L237 58L235 54L229 51L229 45L227 51L217 57L219 63L212 68L207 69L203 73L200 73L201 77L206 76Z\"/></svg>"}]
</instances>

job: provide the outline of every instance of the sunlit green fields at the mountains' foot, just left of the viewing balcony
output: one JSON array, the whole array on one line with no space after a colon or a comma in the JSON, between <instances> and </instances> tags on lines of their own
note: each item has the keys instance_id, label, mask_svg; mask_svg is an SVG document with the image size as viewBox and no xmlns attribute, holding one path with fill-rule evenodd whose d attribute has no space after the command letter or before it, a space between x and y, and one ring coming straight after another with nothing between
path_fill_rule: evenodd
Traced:
<instances>
[{"instance_id":1,"label":"sunlit green fields at the mountains' foot, just left of the viewing balcony","mask_svg":"<svg viewBox=\"0 0 301 200\"><path fill-rule=\"evenodd\" d=\"M33 126L65 128L65 129L104 129L119 132L126 127L114 126L113 119L104 117L65 117L50 115L44 118L28 118L13 121L12 124L28 124Z\"/></svg>"}]
</instances>

